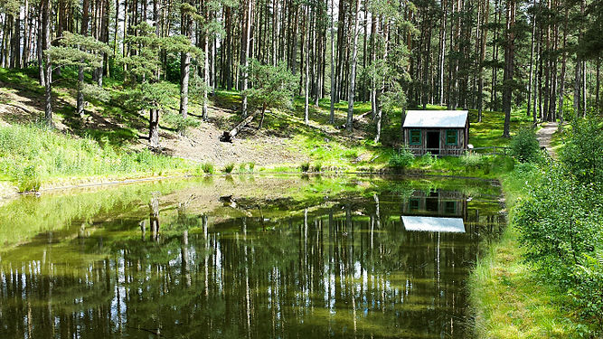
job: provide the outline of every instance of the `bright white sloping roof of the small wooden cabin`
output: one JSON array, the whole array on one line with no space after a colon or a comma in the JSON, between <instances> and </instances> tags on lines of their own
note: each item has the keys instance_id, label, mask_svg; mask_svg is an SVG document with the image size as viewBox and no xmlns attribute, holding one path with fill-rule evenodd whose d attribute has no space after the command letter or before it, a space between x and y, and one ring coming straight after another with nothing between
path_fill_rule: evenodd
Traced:
<instances>
[{"instance_id":1,"label":"bright white sloping roof of the small wooden cabin","mask_svg":"<svg viewBox=\"0 0 603 339\"><path fill-rule=\"evenodd\" d=\"M467 110L409 110L404 120L408 127L465 127Z\"/></svg>"}]
</instances>

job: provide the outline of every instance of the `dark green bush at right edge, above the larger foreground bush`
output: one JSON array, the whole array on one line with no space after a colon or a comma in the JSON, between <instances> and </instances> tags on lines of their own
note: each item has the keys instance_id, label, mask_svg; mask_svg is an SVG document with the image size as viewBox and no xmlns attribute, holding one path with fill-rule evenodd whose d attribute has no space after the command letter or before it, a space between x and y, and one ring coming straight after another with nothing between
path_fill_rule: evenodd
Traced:
<instances>
[{"instance_id":1,"label":"dark green bush at right edge, above the larger foreground bush","mask_svg":"<svg viewBox=\"0 0 603 339\"><path fill-rule=\"evenodd\" d=\"M603 128L595 118L577 119L561 149L561 161L580 183L603 183ZM599 187L600 188L600 187Z\"/></svg>"}]
</instances>

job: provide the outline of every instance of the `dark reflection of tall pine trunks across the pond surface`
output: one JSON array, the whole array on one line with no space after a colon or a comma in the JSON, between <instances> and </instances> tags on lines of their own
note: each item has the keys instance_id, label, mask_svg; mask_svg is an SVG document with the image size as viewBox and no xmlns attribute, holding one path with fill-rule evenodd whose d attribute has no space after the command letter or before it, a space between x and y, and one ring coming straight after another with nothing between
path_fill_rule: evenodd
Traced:
<instances>
[{"instance_id":1,"label":"dark reflection of tall pine trunks across the pond surface","mask_svg":"<svg viewBox=\"0 0 603 339\"><path fill-rule=\"evenodd\" d=\"M164 220L151 199L151 241L140 226L91 233L78 240L84 250L64 240L42 259L3 261L0 336L462 337L478 234L500 227L495 213L469 212L466 234L407 232L400 202L377 194L306 208L273 228L263 217L219 228L239 231L210 231L206 215L175 208Z\"/></svg>"}]
</instances>

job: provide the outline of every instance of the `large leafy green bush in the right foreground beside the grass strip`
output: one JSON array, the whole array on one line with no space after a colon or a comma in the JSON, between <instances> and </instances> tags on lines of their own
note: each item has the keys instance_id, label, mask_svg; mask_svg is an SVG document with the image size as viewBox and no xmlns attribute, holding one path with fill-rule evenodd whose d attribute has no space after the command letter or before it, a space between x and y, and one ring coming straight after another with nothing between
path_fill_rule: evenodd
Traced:
<instances>
[{"instance_id":1,"label":"large leafy green bush in the right foreground beside the grass strip","mask_svg":"<svg viewBox=\"0 0 603 339\"><path fill-rule=\"evenodd\" d=\"M573 297L583 319L603 330L603 202L591 184L568 175L566 166L550 166L517 168L532 174L522 183L527 193L513 210L513 225L525 259Z\"/></svg>"}]
</instances>

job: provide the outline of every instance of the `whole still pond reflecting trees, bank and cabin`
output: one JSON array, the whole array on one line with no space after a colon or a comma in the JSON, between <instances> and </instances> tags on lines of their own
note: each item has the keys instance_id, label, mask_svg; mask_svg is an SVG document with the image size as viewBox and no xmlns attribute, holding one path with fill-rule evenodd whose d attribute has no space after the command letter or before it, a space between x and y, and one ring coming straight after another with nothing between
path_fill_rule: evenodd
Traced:
<instances>
[{"instance_id":1,"label":"whole still pond reflecting trees, bank and cabin","mask_svg":"<svg viewBox=\"0 0 603 339\"><path fill-rule=\"evenodd\" d=\"M0 207L0 337L466 338L469 179L216 176Z\"/></svg>"}]
</instances>

